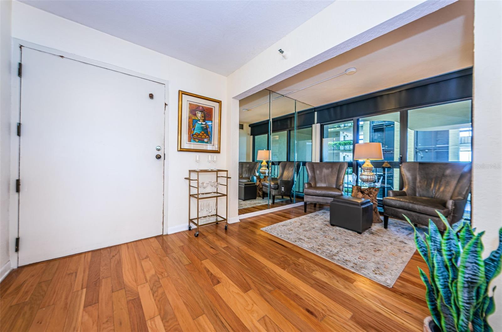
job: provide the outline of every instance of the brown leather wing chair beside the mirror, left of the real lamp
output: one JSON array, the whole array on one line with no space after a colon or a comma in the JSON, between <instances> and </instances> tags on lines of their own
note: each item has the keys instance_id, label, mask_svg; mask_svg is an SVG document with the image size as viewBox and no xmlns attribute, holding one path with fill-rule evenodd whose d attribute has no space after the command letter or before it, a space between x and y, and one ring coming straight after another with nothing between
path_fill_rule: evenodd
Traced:
<instances>
[{"instance_id":1,"label":"brown leather wing chair beside the mirror, left of the real lamp","mask_svg":"<svg viewBox=\"0 0 502 332\"><path fill-rule=\"evenodd\" d=\"M307 212L307 203L329 204L333 198L343 195L343 178L348 164L334 163L306 163L309 182L303 186L303 209Z\"/></svg>"}]
</instances>

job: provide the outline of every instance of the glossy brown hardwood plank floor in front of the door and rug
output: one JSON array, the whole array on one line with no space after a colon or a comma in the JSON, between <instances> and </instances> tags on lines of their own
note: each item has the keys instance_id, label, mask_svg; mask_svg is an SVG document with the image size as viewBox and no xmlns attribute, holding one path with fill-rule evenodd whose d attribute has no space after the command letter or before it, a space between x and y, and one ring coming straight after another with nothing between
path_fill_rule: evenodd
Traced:
<instances>
[{"instance_id":1,"label":"glossy brown hardwood plank floor in front of the door and rug","mask_svg":"<svg viewBox=\"0 0 502 332\"><path fill-rule=\"evenodd\" d=\"M308 211L320 208L308 205ZM260 228L303 206L25 266L0 284L2 331L420 331L415 253L393 288Z\"/></svg>"}]
</instances>

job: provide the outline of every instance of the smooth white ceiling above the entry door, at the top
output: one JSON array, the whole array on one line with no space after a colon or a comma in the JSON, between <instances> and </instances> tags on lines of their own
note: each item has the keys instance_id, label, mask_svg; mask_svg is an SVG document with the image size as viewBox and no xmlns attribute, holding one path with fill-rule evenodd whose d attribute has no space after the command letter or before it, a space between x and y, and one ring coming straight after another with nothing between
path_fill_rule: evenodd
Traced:
<instances>
[{"instance_id":1,"label":"smooth white ceiling above the entry door, at the top","mask_svg":"<svg viewBox=\"0 0 502 332\"><path fill-rule=\"evenodd\" d=\"M333 2L21 1L225 76Z\"/></svg>"}]
</instances>

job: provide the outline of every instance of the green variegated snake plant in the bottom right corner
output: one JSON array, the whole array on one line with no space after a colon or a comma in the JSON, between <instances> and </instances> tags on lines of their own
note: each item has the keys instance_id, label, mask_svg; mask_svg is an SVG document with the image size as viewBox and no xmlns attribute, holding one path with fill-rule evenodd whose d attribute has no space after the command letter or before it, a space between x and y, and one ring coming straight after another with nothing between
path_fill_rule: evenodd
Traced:
<instances>
[{"instance_id":1,"label":"green variegated snake plant in the bottom right corner","mask_svg":"<svg viewBox=\"0 0 502 332\"><path fill-rule=\"evenodd\" d=\"M446 218L439 216L446 225L442 236L431 220L425 239L413 227L418 252L429 268L429 278L420 268L419 272L431 316L442 332L492 332L487 317L495 311L495 304L488 295L488 285L500 273L502 228L498 248L483 260L484 232L474 234L475 229L465 220L450 227Z\"/></svg>"}]
</instances>

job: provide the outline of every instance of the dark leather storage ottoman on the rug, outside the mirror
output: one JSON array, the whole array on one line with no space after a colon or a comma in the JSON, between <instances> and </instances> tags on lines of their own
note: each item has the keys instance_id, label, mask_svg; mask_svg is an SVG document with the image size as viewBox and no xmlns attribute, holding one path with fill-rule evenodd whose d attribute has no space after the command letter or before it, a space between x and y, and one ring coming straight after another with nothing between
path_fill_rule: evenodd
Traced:
<instances>
[{"instance_id":1,"label":"dark leather storage ottoman on the rug, outside the mirror","mask_svg":"<svg viewBox=\"0 0 502 332\"><path fill-rule=\"evenodd\" d=\"M373 203L369 199L338 196L329 203L329 224L361 234L373 222Z\"/></svg>"}]
</instances>

